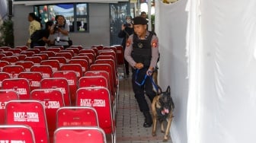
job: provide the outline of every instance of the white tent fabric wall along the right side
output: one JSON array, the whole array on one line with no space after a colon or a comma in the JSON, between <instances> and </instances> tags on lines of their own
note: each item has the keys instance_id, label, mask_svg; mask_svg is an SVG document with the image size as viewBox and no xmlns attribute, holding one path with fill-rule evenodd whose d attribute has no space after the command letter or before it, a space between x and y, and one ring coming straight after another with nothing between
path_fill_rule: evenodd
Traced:
<instances>
[{"instance_id":1,"label":"white tent fabric wall along the right side","mask_svg":"<svg viewBox=\"0 0 256 143\"><path fill-rule=\"evenodd\" d=\"M253 143L256 1L156 4L159 83L171 84L175 143ZM168 18L167 18L168 16Z\"/></svg>"}]
</instances>

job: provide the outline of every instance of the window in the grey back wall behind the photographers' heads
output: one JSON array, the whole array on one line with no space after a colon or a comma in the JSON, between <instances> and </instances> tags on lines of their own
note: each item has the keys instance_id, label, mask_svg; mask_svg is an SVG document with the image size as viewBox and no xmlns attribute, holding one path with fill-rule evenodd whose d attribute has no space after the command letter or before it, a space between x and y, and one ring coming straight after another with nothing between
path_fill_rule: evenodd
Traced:
<instances>
[{"instance_id":1,"label":"window in the grey back wall behind the photographers' heads","mask_svg":"<svg viewBox=\"0 0 256 143\"><path fill-rule=\"evenodd\" d=\"M55 21L56 15L63 15L70 32L88 32L88 4L37 5L34 11L44 25L47 21Z\"/></svg>"}]
</instances>

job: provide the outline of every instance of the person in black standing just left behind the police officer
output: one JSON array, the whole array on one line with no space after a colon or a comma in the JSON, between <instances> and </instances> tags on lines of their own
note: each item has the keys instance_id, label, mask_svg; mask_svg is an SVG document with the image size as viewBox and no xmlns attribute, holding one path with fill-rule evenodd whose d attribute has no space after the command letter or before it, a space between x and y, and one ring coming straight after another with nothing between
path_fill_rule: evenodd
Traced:
<instances>
[{"instance_id":1,"label":"person in black standing just left behind the police officer","mask_svg":"<svg viewBox=\"0 0 256 143\"><path fill-rule=\"evenodd\" d=\"M128 40L130 35L133 33L133 24L131 22L132 22L132 17L129 15L126 16L126 22L122 24L121 30L118 33L118 37L123 38L122 40L123 50L125 50L125 47L126 47L126 40ZM126 59L124 59L124 65L126 69L126 75L129 75L130 74L129 63L126 61Z\"/></svg>"}]
</instances>

